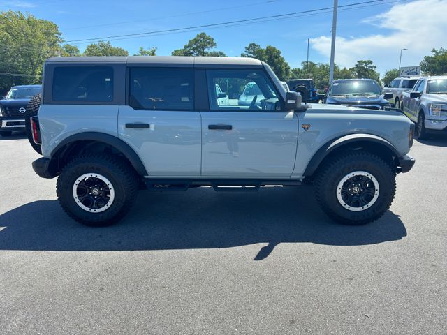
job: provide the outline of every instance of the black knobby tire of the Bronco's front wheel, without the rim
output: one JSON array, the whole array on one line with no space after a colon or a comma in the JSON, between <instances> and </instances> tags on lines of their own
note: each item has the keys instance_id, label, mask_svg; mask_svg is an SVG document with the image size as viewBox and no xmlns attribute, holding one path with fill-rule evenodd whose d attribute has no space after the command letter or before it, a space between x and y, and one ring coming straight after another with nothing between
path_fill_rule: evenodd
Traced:
<instances>
[{"instance_id":1,"label":"black knobby tire of the Bronco's front wheel, without the rim","mask_svg":"<svg viewBox=\"0 0 447 335\"><path fill-rule=\"evenodd\" d=\"M381 157L367 151L335 156L318 170L314 181L316 201L333 220L344 225L365 225L380 218L391 206L396 191L395 172ZM365 171L379 183L379 196L371 207L350 211L337 200L337 186L349 173Z\"/></svg>"}]
</instances>

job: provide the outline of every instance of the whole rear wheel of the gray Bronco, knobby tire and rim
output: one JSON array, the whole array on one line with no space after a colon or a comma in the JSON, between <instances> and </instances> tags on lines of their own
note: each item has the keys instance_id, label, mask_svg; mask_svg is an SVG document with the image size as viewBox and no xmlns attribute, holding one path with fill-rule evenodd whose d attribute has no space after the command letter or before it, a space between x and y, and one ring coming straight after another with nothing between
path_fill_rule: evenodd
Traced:
<instances>
[{"instance_id":1,"label":"whole rear wheel of the gray Bronco, knobby tire and rim","mask_svg":"<svg viewBox=\"0 0 447 335\"><path fill-rule=\"evenodd\" d=\"M66 165L56 187L68 216L100 227L117 222L129 211L138 191L138 176L115 156L87 154Z\"/></svg>"}]
</instances>

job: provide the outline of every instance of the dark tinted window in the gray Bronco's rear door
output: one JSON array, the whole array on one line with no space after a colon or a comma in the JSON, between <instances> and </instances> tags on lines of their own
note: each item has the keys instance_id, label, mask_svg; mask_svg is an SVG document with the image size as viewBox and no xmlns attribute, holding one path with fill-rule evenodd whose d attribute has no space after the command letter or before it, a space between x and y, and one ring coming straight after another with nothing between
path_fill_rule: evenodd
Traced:
<instances>
[{"instance_id":1,"label":"dark tinted window in the gray Bronco's rear door","mask_svg":"<svg viewBox=\"0 0 447 335\"><path fill-rule=\"evenodd\" d=\"M129 105L137 110L194 108L192 68L131 68L129 84Z\"/></svg>"}]
</instances>

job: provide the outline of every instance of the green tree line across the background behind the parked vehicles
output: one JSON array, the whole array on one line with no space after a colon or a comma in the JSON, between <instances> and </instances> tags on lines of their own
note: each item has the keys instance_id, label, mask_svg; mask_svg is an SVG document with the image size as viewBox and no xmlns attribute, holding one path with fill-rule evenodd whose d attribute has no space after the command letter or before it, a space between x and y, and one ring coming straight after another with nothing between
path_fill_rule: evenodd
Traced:
<instances>
[{"instance_id":1,"label":"green tree line across the background behind the parked vehicles","mask_svg":"<svg viewBox=\"0 0 447 335\"><path fill-rule=\"evenodd\" d=\"M14 84L34 84L41 82L43 62L48 57L70 56L129 56L122 47L115 47L110 41L98 41L80 52L76 45L64 43L64 38L54 22L42 20L31 14L21 12L0 13L0 92L8 90ZM212 36L197 34L181 49L173 50L173 56L214 56L226 57L218 51ZM140 47L135 56L154 56L156 47ZM298 68L291 68L281 55L281 50L272 45L261 47L249 43L240 57L254 57L269 64L280 80L291 78L312 78L315 86L323 90L329 83L329 64L303 61ZM425 56L420 62L423 73L441 75L447 68L447 50L433 49L432 55ZM393 68L380 77L376 66L369 59L359 60L351 68L341 68L335 64L334 78L370 78L388 85L399 75Z\"/></svg>"}]
</instances>

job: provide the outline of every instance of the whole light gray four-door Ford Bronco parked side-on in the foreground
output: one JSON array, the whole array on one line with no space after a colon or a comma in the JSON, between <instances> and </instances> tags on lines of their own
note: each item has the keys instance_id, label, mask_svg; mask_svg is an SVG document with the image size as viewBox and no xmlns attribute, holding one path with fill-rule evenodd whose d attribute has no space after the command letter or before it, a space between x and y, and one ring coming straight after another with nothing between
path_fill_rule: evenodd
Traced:
<instances>
[{"instance_id":1,"label":"whole light gray four-door Ford Bronco parked side-on in the foreground","mask_svg":"<svg viewBox=\"0 0 447 335\"><path fill-rule=\"evenodd\" d=\"M33 168L58 177L61 207L86 225L118 221L138 189L304 181L331 218L360 225L388 210L395 175L414 164L403 114L303 104L257 59L59 57L43 78ZM247 84L255 93L241 104Z\"/></svg>"}]
</instances>

